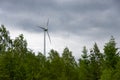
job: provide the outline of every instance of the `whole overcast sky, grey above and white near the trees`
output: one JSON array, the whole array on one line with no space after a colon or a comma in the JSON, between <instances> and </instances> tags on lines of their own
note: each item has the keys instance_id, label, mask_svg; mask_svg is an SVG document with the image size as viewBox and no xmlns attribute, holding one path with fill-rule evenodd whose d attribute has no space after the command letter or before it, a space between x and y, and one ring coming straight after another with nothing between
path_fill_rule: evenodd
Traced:
<instances>
[{"instance_id":1,"label":"whole overcast sky, grey above and white near the trees","mask_svg":"<svg viewBox=\"0 0 120 80\"><path fill-rule=\"evenodd\" d=\"M83 46L94 43L103 50L114 36L120 46L120 0L0 0L0 24L4 24L14 39L24 34L28 48L43 52L43 30L49 19L47 52L60 54L68 47L78 58Z\"/></svg>"}]
</instances>

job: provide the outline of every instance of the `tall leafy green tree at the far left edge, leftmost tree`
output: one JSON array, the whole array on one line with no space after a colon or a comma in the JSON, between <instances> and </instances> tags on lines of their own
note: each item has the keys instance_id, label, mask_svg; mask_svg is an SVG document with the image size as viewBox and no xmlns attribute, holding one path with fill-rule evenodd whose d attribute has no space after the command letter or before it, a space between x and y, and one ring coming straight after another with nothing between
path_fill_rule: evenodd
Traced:
<instances>
[{"instance_id":1,"label":"tall leafy green tree at the far left edge, leftmost tree","mask_svg":"<svg viewBox=\"0 0 120 80\"><path fill-rule=\"evenodd\" d=\"M0 27L0 79L13 79L14 75L14 61L12 53L12 40L9 36L9 31L4 25ZM12 69L11 69L12 68Z\"/></svg>"}]
</instances>

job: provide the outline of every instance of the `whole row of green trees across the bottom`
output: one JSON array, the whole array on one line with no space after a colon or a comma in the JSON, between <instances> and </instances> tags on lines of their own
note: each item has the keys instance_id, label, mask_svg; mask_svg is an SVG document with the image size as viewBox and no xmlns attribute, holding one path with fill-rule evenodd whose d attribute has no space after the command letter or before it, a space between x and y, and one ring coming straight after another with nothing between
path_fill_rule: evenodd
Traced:
<instances>
[{"instance_id":1,"label":"whole row of green trees across the bottom","mask_svg":"<svg viewBox=\"0 0 120 80\"><path fill-rule=\"evenodd\" d=\"M120 55L113 37L101 53L97 44L88 52L79 52L78 61L65 48L62 56L51 50L48 57L27 48L23 35L10 38L4 25L0 27L0 80L119 80Z\"/></svg>"}]
</instances>

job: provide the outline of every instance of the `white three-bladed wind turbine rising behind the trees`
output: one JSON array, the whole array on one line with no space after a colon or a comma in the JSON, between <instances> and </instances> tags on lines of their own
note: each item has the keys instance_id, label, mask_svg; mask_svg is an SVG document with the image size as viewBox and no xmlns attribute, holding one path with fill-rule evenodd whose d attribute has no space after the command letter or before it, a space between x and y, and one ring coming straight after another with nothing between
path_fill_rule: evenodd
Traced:
<instances>
[{"instance_id":1,"label":"white three-bladed wind turbine rising behind the trees","mask_svg":"<svg viewBox=\"0 0 120 80\"><path fill-rule=\"evenodd\" d=\"M49 19L47 21L46 26L39 26L44 31L44 56L45 57L46 57L46 34L48 35L49 41L51 43L50 35L48 32L48 24L49 24Z\"/></svg>"}]
</instances>

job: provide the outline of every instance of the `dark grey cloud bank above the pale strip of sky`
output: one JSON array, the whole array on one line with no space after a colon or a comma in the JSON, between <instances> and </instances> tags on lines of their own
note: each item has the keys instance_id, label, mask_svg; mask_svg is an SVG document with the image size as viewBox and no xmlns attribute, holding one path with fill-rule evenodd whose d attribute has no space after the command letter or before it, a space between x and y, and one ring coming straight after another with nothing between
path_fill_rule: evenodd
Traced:
<instances>
[{"instance_id":1,"label":"dark grey cloud bank above the pale strip of sky","mask_svg":"<svg viewBox=\"0 0 120 80\"><path fill-rule=\"evenodd\" d=\"M119 11L116 0L1 0L0 21L15 24L19 29L39 32L35 26L50 18L52 33L72 33L97 37L116 35L119 31ZM118 6L117 6L118 7Z\"/></svg>"}]
</instances>

